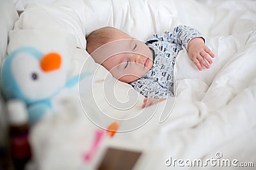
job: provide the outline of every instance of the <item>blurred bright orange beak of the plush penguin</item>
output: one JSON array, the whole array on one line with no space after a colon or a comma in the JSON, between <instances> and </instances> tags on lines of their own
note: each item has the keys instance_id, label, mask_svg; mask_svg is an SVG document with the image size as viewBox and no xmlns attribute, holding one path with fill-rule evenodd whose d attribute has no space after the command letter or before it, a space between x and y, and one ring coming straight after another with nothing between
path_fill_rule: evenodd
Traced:
<instances>
[{"instance_id":1,"label":"blurred bright orange beak of the plush penguin","mask_svg":"<svg viewBox=\"0 0 256 170\"><path fill-rule=\"evenodd\" d=\"M61 57L58 53L48 53L40 61L40 66L44 71L53 71L61 66Z\"/></svg>"}]
</instances>

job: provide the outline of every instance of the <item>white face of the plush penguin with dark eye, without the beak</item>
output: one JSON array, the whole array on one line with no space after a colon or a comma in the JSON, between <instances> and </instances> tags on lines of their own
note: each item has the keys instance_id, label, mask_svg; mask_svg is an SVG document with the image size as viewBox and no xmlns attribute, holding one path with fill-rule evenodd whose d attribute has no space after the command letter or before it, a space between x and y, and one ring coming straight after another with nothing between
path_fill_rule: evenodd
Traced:
<instances>
[{"instance_id":1,"label":"white face of the plush penguin with dark eye, without the beak","mask_svg":"<svg viewBox=\"0 0 256 170\"><path fill-rule=\"evenodd\" d=\"M30 53L18 53L11 67L20 91L31 101L51 97L66 82L66 74L61 69L44 72L40 61Z\"/></svg>"}]
</instances>

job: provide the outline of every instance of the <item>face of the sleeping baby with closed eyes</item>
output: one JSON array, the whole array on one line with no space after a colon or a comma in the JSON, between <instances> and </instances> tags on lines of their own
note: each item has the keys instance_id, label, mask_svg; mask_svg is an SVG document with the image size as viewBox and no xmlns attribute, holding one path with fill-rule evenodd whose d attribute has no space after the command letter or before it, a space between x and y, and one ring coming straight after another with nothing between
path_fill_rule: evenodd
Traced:
<instances>
[{"instance_id":1,"label":"face of the sleeping baby with closed eyes","mask_svg":"<svg viewBox=\"0 0 256 170\"><path fill-rule=\"evenodd\" d=\"M102 66L125 83L138 80L153 66L152 51L148 46L127 34L101 46L93 55L101 59L104 56Z\"/></svg>"}]
</instances>

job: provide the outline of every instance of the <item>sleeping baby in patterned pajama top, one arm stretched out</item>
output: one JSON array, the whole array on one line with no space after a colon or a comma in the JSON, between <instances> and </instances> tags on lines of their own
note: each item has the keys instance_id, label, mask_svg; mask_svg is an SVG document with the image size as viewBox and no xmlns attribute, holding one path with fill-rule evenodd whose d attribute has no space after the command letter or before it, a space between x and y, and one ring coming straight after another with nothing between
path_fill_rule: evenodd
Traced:
<instances>
[{"instance_id":1,"label":"sleeping baby in patterned pajama top, one arm stretched out","mask_svg":"<svg viewBox=\"0 0 256 170\"><path fill-rule=\"evenodd\" d=\"M173 67L182 46L200 71L208 69L214 57L202 34L186 25L154 34L146 42L114 27L102 27L90 33L86 41L86 50L95 62L146 97L142 108L174 95Z\"/></svg>"}]
</instances>

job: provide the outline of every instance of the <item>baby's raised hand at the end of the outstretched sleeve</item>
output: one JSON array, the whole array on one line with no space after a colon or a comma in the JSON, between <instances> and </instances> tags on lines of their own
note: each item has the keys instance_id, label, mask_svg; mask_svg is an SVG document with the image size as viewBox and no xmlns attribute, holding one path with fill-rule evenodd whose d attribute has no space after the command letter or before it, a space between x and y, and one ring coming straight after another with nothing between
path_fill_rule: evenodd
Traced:
<instances>
[{"instance_id":1,"label":"baby's raised hand at the end of the outstretched sleeve","mask_svg":"<svg viewBox=\"0 0 256 170\"><path fill-rule=\"evenodd\" d=\"M188 43L188 56L201 71L203 66L209 69L209 64L212 64L212 60L209 56L213 58L214 53L212 53L212 51L206 45L204 45L204 39L197 37L191 39Z\"/></svg>"}]
</instances>

